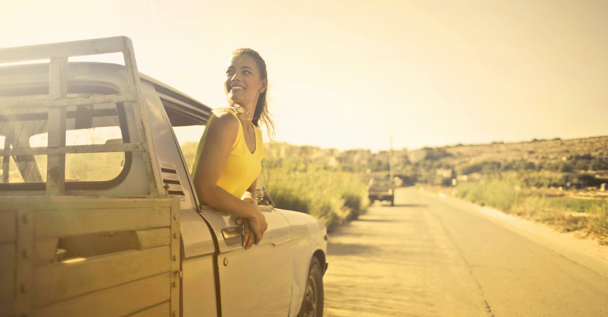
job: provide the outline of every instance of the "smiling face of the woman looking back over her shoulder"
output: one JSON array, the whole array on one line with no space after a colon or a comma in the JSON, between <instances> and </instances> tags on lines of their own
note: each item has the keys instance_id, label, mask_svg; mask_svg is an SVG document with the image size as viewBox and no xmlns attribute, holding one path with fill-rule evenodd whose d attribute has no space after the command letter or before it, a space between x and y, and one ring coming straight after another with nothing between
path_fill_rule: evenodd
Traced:
<instances>
[{"instance_id":1,"label":"smiling face of the woman looking back over her shoulder","mask_svg":"<svg viewBox=\"0 0 608 317\"><path fill-rule=\"evenodd\" d=\"M233 55L226 67L224 92L229 103L238 104L253 113L258 97L266 89L266 79L249 54Z\"/></svg>"}]
</instances>

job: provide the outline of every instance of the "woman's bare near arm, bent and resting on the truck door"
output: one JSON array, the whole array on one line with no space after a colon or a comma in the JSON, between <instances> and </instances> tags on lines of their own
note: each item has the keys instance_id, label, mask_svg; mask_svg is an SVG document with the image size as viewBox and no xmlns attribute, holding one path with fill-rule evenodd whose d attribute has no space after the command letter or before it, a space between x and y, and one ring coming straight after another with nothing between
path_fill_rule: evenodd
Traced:
<instances>
[{"instance_id":1,"label":"woman's bare near arm, bent and resting on the truck door","mask_svg":"<svg viewBox=\"0 0 608 317\"><path fill-rule=\"evenodd\" d=\"M193 182L196 194L202 202L225 213L249 219L258 243L266 230L264 215L256 205L232 196L216 185L232 151L232 145L237 139L238 128L237 118L230 114L219 114L211 121L196 164Z\"/></svg>"}]
</instances>

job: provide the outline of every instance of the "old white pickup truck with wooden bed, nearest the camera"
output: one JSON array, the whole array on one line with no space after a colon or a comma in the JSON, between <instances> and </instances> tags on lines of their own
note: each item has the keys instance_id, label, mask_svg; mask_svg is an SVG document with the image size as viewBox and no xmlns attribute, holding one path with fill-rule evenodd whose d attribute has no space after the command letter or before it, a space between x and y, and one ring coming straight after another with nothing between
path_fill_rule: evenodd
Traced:
<instances>
[{"instance_id":1,"label":"old white pickup truck with wooden bed, nearest the camera","mask_svg":"<svg viewBox=\"0 0 608 317\"><path fill-rule=\"evenodd\" d=\"M68 63L105 53L124 64ZM0 315L322 316L322 223L261 187L244 250L199 203L174 128L210 111L123 36L0 49Z\"/></svg>"}]
</instances>

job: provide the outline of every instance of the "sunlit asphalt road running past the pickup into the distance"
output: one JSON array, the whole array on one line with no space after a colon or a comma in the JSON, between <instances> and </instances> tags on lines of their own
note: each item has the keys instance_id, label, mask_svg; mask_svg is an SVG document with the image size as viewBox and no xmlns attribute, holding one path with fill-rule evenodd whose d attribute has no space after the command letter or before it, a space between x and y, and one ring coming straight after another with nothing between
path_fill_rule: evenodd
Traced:
<instances>
[{"instance_id":1,"label":"sunlit asphalt road running past the pickup into the distance","mask_svg":"<svg viewBox=\"0 0 608 317\"><path fill-rule=\"evenodd\" d=\"M399 188L330 233L325 316L608 316L608 264L474 210Z\"/></svg>"}]
</instances>

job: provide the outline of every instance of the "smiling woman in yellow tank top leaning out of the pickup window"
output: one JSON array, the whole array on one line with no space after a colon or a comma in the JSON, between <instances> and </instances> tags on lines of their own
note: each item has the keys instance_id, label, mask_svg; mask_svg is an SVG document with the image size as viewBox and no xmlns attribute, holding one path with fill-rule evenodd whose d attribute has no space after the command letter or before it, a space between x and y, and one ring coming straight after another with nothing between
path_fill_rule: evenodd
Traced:
<instances>
[{"instance_id":1,"label":"smiling woman in yellow tank top leaning out of the pickup window","mask_svg":"<svg viewBox=\"0 0 608 317\"><path fill-rule=\"evenodd\" d=\"M268 227L255 196L264 157L258 122L269 131L274 128L266 106L267 86L266 63L255 50L232 52L224 83L230 107L214 111L207 121L193 166L199 199L239 217L245 249L258 244Z\"/></svg>"}]
</instances>

